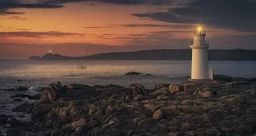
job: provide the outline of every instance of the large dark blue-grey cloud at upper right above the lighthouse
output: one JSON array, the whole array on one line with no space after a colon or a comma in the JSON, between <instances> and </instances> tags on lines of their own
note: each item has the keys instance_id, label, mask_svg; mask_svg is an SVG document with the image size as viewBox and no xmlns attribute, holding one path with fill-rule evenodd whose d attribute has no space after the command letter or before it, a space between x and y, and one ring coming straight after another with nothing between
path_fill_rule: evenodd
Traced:
<instances>
[{"instance_id":1,"label":"large dark blue-grey cloud at upper right above the lighthouse","mask_svg":"<svg viewBox=\"0 0 256 136\"><path fill-rule=\"evenodd\" d=\"M196 0L166 12L133 14L157 21L200 23L218 28L256 31L256 2L252 0Z\"/></svg>"}]
</instances>

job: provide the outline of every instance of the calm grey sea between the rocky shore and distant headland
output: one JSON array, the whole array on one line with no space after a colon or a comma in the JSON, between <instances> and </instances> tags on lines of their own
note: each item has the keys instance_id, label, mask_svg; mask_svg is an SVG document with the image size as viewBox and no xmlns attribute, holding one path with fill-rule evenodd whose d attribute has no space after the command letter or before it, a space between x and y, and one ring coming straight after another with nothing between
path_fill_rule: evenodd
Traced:
<instances>
[{"instance_id":1,"label":"calm grey sea between the rocky shore and distant headland","mask_svg":"<svg viewBox=\"0 0 256 136\"><path fill-rule=\"evenodd\" d=\"M129 87L142 84L152 88L156 84L180 83L190 76L190 60L87 60L86 69L78 69L82 60L0 60L0 115L9 115L27 121L30 115L14 113L12 109L21 103L34 103L30 99L15 102L16 94L36 95L38 89L60 81L62 84L107 85ZM210 61L214 74L256 77L256 61ZM151 76L125 76L127 72L143 72ZM6 89L28 87L28 91ZM3 133L7 126L0 126Z\"/></svg>"}]
</instances>

